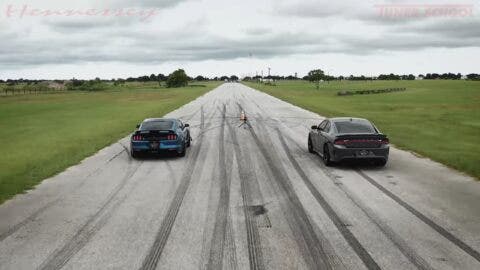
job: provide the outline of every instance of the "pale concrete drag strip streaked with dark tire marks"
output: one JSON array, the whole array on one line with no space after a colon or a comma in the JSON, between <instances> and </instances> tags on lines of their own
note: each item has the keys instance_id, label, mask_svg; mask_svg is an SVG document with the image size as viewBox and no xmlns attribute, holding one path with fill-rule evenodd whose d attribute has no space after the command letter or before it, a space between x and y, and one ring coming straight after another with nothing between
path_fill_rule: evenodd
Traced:
<instances>
[{"instance_id":1,"label":"pale concrete drag strip streaked with dark tire marks","mask_svg":"<svg viewBox=\"0 0 480 270\"><path fill-rule=\"evenodd\" d=\"M124 138L1 205L0 269L480 269L461 173L395 148L327 168L306 148L321 116L237 83L167 116L186 157Z\"/></svg>"}]
</instances>

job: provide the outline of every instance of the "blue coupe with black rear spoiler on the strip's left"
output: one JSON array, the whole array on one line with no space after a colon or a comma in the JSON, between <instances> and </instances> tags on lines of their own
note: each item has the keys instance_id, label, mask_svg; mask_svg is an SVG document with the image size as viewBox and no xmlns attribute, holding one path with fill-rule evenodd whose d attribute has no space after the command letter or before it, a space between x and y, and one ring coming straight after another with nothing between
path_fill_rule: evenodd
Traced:
<instances>
[{"instance_id":1,"label":"blue coupe with black rear spoiler on the strip's left","mask_svg":"<svg viewBox=\"0 0 480 270\"><path fill-rule=\"evenodd\" d=\"M183 157L192 140L188 127L179 119L145 119L132 134L130 154L136 158L141 152L176 151Z\"/></svg>"}]
</instances>

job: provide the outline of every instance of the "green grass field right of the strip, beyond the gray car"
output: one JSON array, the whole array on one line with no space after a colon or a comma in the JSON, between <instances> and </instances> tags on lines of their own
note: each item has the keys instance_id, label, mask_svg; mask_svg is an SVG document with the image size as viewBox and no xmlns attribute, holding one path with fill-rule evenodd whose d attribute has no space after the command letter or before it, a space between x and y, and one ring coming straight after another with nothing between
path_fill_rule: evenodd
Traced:
<instances>
[{"instance_id":1,"label":"green grass field right of the strip, beyond the gray car","mask_svg":"<svg viewBox=\"0 0 480 270\"><path fill-rule=\"evenodd\" d=\"M480 179L480 82L278 82L246 85L324 116L365 117L393 144ZM337 96L340 90L406 87L405 92Z\"/></svg>"}]
</instances>

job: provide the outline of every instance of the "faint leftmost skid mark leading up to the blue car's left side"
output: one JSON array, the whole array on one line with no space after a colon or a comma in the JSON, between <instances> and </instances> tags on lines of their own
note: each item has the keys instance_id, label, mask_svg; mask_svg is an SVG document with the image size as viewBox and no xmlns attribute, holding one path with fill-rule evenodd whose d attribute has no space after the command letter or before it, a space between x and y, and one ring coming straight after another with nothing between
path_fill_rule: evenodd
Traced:
<instances>
[{"instance_id":1,"label":"faint leftmost skid mark leading up to the blue car's left side","mask_svg":"<svg viewBox=\"0 0 480 270\"><path fill-rule=\"evenodd\" d=\"M122 149L120 152L116 153L115 155L113 155L111 158L109 158L107 160L107 162L105 162L104 165L107 165L109 164L110 162L112 162L114 159L116 159L118 156L120 156L123 152L125 152L125 149ZM91 173L89 173L88 175L86 175L81 181L80 183L78 183L77 185L74 186L74 188L72 188L71 191L75 191L79 188L81 188L84 184L85 184L85 181L88 180L90 177L92 177L93 175L99 173L100 171L102 171L102 169L104 169L105 166L101 166L101 167L98 167L96 168L95 170L93 170ZM61 201L62 199L64 199L66 197L66 195L63 195L63 196L59 196L58 198L54 199L53 201L50 201L48 203L46 203L44 206L40 207L38 210L36 210L35 212L33 212L32 214L30 214L28 217L26 217L24 220L20 221L19 223L13 225L11 228L9 228L7 231L3 232L0 234L0 242L2 242L3 240L5 240L7 237L9 237L10 235L14 234L15 232L17 232L20 228L22 228L23 226L27 225L28 223L30 222L33 222L35 221L35 219L37 219L38 216L40 216L40 214L42 214L43 212L45 212L47 209L49 209L50 207L52 207L53 205L55 205L57 202Z\"/></svg>"}]
</instances>

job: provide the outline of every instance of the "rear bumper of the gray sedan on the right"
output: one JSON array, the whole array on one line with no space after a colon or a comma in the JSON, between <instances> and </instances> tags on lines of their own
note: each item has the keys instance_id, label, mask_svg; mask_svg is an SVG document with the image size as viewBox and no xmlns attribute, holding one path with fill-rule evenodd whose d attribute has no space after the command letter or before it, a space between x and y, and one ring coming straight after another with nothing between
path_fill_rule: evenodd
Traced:
<instances>
[{"instance_id":1,"label":"rear bumper of the gray sedan on the right","mask_svg":"<svg viewBox=\"0 0 480 270\"><path fill-rule=\"evenodd\" d=\"M351 159L376 159L388 160L390 148L388 146L380 148L345 148L334 146L332 151L332 161L342 161Z\"/></svg>"}]
</instances>

